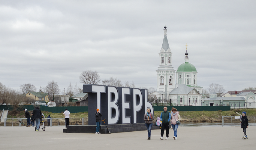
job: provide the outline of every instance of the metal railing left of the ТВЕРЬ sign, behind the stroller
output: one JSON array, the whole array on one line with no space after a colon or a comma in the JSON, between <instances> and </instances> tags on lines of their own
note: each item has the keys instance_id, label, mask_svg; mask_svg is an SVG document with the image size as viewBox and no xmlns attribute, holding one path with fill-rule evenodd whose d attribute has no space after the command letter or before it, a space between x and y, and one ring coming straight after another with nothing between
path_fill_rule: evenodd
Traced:
<instances>
[{"instance_id":1,"label":"metal railing left of the \u0422\u0412\u0415\u0420\u042c sign, behind the stroller","mask_svg":"<svg viewBox=\"0 0 256 150\"><path fill-rule=\"evenodd\" d=\"M50 121L49 126L65 126L65 118L45 118L45 126L48 125L48 119ZM5 118L0 126L23 126L19 121L27 125L27 118ZM69 118L69 125L76 124L88 125L88 118Z\"/></svg>"}]
</instances>

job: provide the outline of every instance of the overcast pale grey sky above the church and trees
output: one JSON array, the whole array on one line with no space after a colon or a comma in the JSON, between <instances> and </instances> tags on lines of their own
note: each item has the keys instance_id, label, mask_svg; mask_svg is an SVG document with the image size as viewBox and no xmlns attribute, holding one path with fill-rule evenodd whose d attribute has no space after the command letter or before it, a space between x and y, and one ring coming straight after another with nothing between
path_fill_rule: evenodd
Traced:
<instances>
[{"instance_id":1,"label":"overcast pale grey sky above the church and trees","mask_svg":"<svg viewBox=\"0 0 256 150\"><path fill-rule=\"evenodd\" d=\"M189 62L198 85L256 87L255 0L0 0L0 82L61 91L82 71L156 88L163 27L174 69Z\"/></svg>"}]
</instances>

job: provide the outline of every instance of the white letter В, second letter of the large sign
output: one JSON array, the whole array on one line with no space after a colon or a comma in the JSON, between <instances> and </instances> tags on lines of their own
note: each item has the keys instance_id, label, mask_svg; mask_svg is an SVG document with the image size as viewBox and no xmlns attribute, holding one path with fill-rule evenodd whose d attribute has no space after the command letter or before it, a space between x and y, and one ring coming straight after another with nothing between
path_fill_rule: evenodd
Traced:
<instances>
[{"instance_id":1,"label":"white letter \u0412, second letter of the large sign","mask_svg":"<svg viewBox=\"0 0 256 150\"><path fill-rule=\"evenodd\" d=\"M114 100L112 101L113 98ZM117 106L117 101L117 88L108 87L108 124L116 124L119 120L119 107Z\"/></svg>"}]
</instances>

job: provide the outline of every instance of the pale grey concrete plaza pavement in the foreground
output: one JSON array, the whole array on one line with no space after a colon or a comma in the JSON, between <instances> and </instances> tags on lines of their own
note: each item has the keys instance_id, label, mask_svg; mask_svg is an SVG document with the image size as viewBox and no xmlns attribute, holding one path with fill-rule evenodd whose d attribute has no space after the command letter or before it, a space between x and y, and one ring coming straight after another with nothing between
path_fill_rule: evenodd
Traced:
<instances>
[{"instance_id":1,"label":"pale grey concrete plaza pavement in the foreground","mask_svg":"<svg viewBox=\"0 0 256 150\"><path fill-rule=\"evenodd\" d=\"M174 140L170 129L169 140L160 140L160 129L114 134L63 133L63 126L46 126L46 131L34 127L0 126L0 150L253 150L256 149L256 126L247 128L243 140L240 126L178 127ZM164 139L165 139L164 134Z\"/></svg>"}]
</instances>

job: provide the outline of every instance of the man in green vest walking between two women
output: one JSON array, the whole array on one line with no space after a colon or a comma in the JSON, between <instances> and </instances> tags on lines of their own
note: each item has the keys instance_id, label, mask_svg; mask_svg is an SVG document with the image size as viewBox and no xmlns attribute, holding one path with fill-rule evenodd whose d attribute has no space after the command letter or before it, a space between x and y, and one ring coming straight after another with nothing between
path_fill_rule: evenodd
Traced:
<instances>
[{"instance_id":1,"label":"man in green vest walking between two women","mask_svg":"<svg viewBox=\"0 0 256 150\"><path fill-rule=\"evenodd\" d=\"M161 125L161 138L160 140L163 140L163 133L166 132L166 138L165 140L168 140L169 137L169 126L170 126L170 120L171 120L171 113L167 111L167 107L163 107L163 112L161 113L160 119L162 121Z\"/></svg>"}]
</instances>

